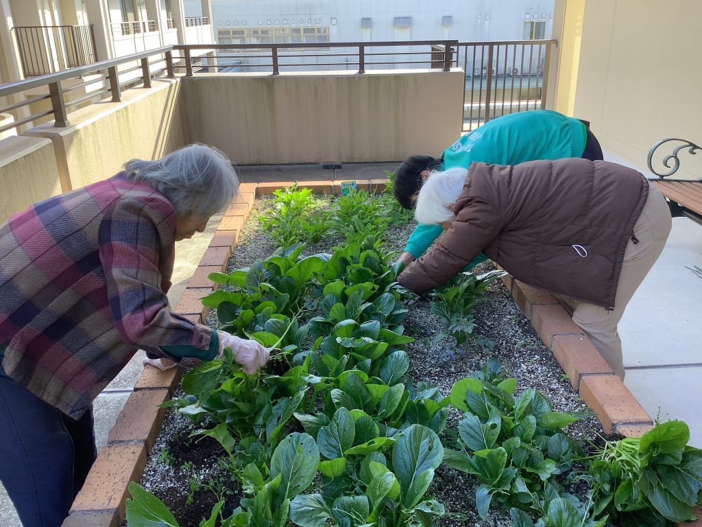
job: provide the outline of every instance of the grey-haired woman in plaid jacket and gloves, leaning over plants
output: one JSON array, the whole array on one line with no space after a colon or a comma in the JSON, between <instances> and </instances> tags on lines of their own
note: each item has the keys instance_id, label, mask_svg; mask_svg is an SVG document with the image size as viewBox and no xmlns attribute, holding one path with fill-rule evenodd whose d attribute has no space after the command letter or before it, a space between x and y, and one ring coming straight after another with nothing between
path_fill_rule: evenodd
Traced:
<instances>
[{"instance_id":1,"label":"grey-haired woman in plaid jacket and gloves, leaning over plants","mask_svg":"<svg viewBox=\"0 0 702 527\"><path fill-rule=\"evenodd\" d=\"M225 347L246 373L254 341L168 305L175 242L237 195L227 157L190 145L0 224L0 481L25 527L60 526L95 461L92 401L137 349L161 369Z\"/></svg>"}]
</instances>

